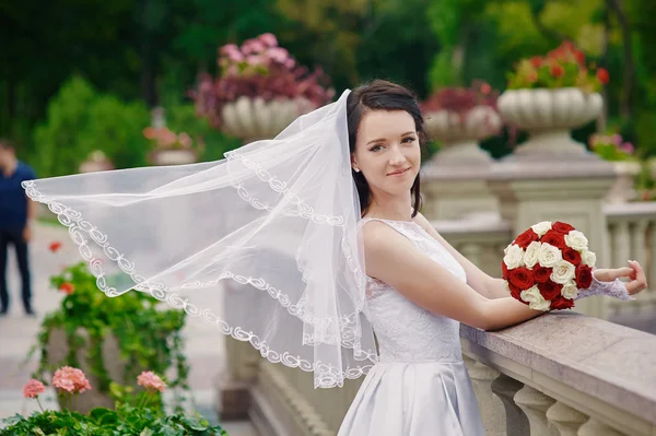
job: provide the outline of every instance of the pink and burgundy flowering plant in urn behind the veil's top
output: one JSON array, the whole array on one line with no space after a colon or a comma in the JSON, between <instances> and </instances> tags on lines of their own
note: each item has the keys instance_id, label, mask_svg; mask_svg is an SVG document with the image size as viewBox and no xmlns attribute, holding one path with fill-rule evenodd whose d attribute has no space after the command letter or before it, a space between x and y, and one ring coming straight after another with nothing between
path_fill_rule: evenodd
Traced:
<instances>
[{"instance_id":1,"label":"pink and burgundy flowering plant in urn behind the veil's top","mask_svg":"<svg viewBox=\"0 0 656 436\"><path fill-rule=\"evenodd\" d=\"M266 102L301 97L318 107L329 103L335 94L320 68L311 73L297 66L270 33L248 39L241 47L227 44L219 55L219 78L202 74L190 93L198 114L208 117L215 127L221 125L223 106L241 96L261 97Z\"/></svg>"}]
</instances>

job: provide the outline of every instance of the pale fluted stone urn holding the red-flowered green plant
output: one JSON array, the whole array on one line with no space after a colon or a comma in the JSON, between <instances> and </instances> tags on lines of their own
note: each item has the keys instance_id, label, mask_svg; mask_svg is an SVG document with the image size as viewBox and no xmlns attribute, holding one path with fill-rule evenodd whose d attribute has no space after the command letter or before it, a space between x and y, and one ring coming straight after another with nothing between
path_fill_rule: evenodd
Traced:
<instances>
[{"instance_id":1,"label":"pale fluted stone urn holding the red-flowered green plant","mask_svg":"<svg viewBox=\"0 0 656 436\"><path fill-rule=\"evenodd\" d=\"M584 144L574 141L570 130L596 119L604 99L598 93L577 87L509 90L497 101L504 120L529 133L529 139L513 154L589 155Z\"/></svg>"}]
</instances>

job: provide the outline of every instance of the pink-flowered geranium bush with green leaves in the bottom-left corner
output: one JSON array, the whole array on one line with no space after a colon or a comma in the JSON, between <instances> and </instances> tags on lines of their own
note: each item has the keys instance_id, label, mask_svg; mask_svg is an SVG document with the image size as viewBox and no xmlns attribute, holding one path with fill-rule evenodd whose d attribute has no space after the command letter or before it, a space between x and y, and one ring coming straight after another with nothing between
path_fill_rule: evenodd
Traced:
<instances>
[{"instance_id":1,"label":"pink-flowered geranium bush with green leaves in the bottom-left corner","mask_svg":"<svg viewBox=\"0 0 656 436\"><path fill-rule=\"evenodd\" d=\"M14 435L67 435L67 436L116 436L116 435L227 435L220 425L210 425L199 414L194 416L180 412L166 414L161 408L152 408L151 399L160 396L165 388L164 381L152 372L144 372L144 390L129 401L117 402L116 410L95 408L86 414L65 411L44 410L38 396L44 392L44 384L32 379L23 392L25 398L35 399L40 412L31 416L16 414L2 420L5 428L0 436ZM72 396L91 389L86 376L78 368L57 369L52 386L58 384L60 394Z\"/></svg>"}]
</instances>

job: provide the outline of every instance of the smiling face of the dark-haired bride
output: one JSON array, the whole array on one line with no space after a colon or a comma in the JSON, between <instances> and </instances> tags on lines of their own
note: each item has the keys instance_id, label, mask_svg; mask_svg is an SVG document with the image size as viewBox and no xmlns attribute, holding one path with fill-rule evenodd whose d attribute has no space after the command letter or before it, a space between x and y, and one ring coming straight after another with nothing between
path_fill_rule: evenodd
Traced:
<instances>
[{"instance_id":1,"label":"smiling face of the dark-haired bride","mask_svg":"<svg viewBox=\"0 0 656 436\"><path fill-rule=\"evenodd\" d=\"M358 129L351 165L374 197L408 193L421 165L414 119L405 110L370 110Z\"/></svg>"}]
</instances>

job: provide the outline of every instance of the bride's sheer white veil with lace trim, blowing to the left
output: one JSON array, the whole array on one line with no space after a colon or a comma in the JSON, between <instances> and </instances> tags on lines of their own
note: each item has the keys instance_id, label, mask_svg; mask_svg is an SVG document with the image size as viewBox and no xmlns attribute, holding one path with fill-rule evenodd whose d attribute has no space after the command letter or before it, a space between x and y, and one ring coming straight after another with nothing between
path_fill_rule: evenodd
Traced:
<instances>
[{"instance_id":1,"label":"bride's sheer white veil with lace trim, blowing to the left","mask_svg":"<svg viewBox=\"0 0 656 436\"><path fill-rule=\"evenodd\" d=\"M218 162L23 182L107 296L148 292L342 386L376 361L347 98ZM222 280L241 286L224 291Z\"/></svg>"}]
</instances>

